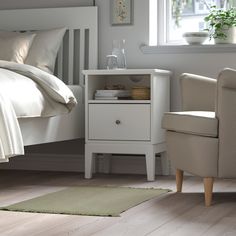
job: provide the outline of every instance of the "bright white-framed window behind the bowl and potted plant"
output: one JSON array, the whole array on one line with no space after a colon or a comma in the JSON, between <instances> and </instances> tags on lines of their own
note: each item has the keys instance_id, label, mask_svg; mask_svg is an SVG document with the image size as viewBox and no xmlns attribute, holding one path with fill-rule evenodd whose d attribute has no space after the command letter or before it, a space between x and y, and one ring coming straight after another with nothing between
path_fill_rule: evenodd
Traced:
<instances>
[{"instance_id":1,"label":"bright white-framed window behind the bowl and potted plant","mask_svg":"<svg viewBox=\"0 0 236 236\"><path fill-rule=\"evenodd\" d=\"M183 44L184 32L201 31L210 6L224 8L235 0L149 0L150 46ZM231 3L232 4L232 3Z\"/></svg>"}]
</instances>

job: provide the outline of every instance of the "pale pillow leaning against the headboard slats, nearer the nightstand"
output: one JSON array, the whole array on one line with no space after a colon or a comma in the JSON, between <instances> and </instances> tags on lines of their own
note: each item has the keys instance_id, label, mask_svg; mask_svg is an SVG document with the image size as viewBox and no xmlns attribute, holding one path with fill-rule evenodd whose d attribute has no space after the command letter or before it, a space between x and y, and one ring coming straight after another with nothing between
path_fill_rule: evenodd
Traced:
<instances>
[{"instance_id":1,"label":"pale pillow leaning against the headboard slats, nearer the nightstand","mask_svg":"<svg viewBox=\"0 0 236 236\"><path fill-rule=\"evenodd\" d=\"M57 53L65 32L66 28L35 31L36 36L25 64L38 67L53 74Z\"/></svg>"}]
</instances>

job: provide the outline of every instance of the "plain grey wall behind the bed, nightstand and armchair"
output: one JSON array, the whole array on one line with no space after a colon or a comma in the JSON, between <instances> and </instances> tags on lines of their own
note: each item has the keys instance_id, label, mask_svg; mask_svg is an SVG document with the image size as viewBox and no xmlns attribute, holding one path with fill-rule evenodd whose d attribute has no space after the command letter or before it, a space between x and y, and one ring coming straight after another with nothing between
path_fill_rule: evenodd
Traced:
<instances>
[{"instance_id":1,"label":"plain grey wall behind the bed, nightstand and armchair","mask_svg":"<svg viewBox=\"0 0 236 236\"><path fill-rule=\"evenodd\" d=\"M0 9L40 8L92 5L92 0L0 0ZM236 68L236 54L153 54L145 55L141 44L148 43L148 0L134 0L134 24L110 25L109 0L96 0L99 6L99 67L105 68L106 55L111 52L112 39L126 39L129 68L162 68L173 71L171 81L171 107L179 109L178 76L182 72L216 77L224 67Z\"/></svg>"}]
</instances>

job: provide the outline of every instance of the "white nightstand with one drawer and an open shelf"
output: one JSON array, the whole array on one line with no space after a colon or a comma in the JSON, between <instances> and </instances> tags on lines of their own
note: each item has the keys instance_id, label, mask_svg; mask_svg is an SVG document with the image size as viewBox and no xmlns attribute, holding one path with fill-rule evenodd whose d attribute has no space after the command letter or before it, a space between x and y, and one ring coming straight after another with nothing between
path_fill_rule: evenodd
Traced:
<instances>
[{"instance_id":1,"label":"white nightstand with one drawer and an open shelf","mask_svg":"<svg viewBox=\"0 0 236 236\"><path fill-rule=\"evenodd\" d=\"M165 133L161 128L169 111L170 71L158 69L84 70L85 75L85 178L92 177L94 158L102 154L143 154L148 181L155 179L155 155L168 174ZM123 85L150 88L150 97L95 99L104 87Z\"/></svg>"}]
</instances>

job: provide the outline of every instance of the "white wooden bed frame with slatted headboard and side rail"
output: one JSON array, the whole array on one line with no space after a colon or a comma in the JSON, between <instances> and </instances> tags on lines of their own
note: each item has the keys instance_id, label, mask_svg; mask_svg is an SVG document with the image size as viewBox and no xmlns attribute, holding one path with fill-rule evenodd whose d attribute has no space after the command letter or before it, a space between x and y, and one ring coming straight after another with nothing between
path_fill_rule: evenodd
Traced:
<instances>
[{"instance_id":1,"label":"white wooden bed frame with slatted headboard and side rail","mask_svg":"<svg viewBox=\"0 0 236 236\"><path fill-rule=\"evenodd\" d=\"M66 32L54 74L68 85L78 104L60 116L18 118L25 146L84 137L82 70L97 68L97 7L0 11L1 30L38 32L62 27Z\"/></svg>"}]
</instances>

